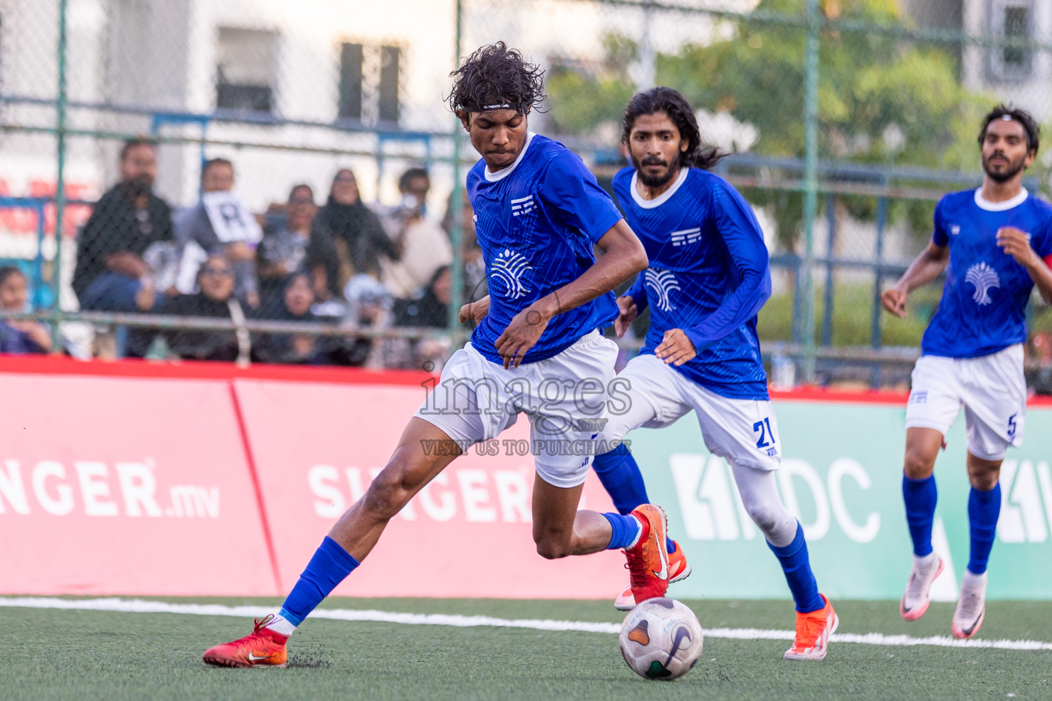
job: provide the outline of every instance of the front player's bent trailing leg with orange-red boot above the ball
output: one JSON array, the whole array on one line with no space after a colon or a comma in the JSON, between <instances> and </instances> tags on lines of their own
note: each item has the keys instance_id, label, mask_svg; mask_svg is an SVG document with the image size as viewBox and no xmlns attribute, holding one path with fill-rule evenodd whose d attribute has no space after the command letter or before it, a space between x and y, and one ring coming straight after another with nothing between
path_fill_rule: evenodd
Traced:
<instances>
[{"instance_id":1,"label":"front player's bent trailing leg with orange-red boot above the ball","mask_svg":"<svg viewBox=\"0 0 1052 701\"><path fill-rule=\"evenodd\" d=\"M555 487L540 475L533 479L533 540L543 557L598 553L610 549L620 537L614 529L618 514L578 511L583 489L583 484L569 489ZM668 590L665 512L645 503L627 518L634 518L640 524L639 535L624 543L635 600L665 596Z\"/></svg>"}]
</instances>

